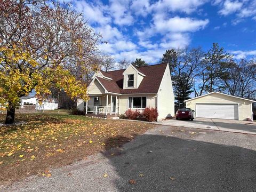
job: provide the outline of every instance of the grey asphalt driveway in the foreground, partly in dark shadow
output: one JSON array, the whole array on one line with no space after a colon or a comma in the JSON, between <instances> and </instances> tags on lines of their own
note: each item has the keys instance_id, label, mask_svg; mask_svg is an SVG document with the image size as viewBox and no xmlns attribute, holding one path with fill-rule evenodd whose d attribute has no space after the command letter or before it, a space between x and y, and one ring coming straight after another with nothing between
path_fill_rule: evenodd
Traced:
<instances>
[{"instance_id":1,"label":"grey asphalt driveway in the foreground, partly in dark shadow","mask_svg":"<svg viewBox=\"0 0 256 192\"><path fill-rule=\"evenodd\" d=\"M50 170L51 178L0 190L256 191L256 136L201 131L159 125L122 148Z\"/></svg>"}]
</instances>

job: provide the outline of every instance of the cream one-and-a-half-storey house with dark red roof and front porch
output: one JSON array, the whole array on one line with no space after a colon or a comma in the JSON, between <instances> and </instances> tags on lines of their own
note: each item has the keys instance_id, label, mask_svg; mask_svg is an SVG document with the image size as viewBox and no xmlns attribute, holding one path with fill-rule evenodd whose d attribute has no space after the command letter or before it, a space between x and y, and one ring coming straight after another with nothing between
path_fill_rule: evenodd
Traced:
<instances>
[{"instance_id":1,"label":"cream one-and-a-half-storey house with dark red roof and front porch","mask_svg":"<svg viewBox=\"0 0 256 192\"><path fill-rule=\"evenodd\" d=\"M78 100L85 113L119 115L127 109L146 107L158 110L158 120L174 116L174 94L167 63L94 74L87 93L90 100Z\"/></svg>"}]
</instances>

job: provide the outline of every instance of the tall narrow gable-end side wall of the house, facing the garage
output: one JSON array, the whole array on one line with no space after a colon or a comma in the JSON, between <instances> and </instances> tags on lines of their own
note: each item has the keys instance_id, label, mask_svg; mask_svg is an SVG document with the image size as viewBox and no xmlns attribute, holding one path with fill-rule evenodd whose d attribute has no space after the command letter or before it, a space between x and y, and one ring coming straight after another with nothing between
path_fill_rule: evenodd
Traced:
<instances>
[{"instance_id":1,"label":"tall narrow gable-end side wall of the house, facing the garage","mask_svg":"<svg viewBox=\"0 0 256 192\"><path fill-rule=\"evenodd\" d=\"M169 65L167 65L158 91L158 120L174 116L174 94Z\"/></svg>"}]
</instances>

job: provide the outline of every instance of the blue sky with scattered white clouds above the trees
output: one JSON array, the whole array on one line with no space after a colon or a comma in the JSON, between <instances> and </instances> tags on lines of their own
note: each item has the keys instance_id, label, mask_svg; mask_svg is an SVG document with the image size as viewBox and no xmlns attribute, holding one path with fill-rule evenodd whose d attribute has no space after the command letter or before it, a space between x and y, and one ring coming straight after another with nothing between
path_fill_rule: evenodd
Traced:
<instances>
[{"instance_id":1,"label":"blue sky with scattered white clouds above the trees","mask_svg":"<svg viewBox=\"0 0 256 192\"><path fill-rule=\"evenodd\" d=\"M65 0L70 2L69 0ZM158 63L165 50L212 43L235 59L256 56L256 0L73 0L116 61Z\"/></svg>"}]
</instances>

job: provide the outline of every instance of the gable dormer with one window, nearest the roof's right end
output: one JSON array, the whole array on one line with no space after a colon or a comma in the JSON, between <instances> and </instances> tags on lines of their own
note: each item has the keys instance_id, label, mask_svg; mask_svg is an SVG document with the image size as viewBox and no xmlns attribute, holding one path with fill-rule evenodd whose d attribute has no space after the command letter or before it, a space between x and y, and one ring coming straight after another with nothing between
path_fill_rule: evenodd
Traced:
<instances>
[{"instance_id":1,"label":"gable dormer with one window, nearest the roof's right end","mask_svg":"<svg viewBox=\"0 0 256 192\"><path fill-rule=\"evenodd\" d=\"M123 89L137 89L140 86L143 77L145 77L139 68L133 66L132 64L125 69L123 76Z\"/></svg>"}]
</instances>

